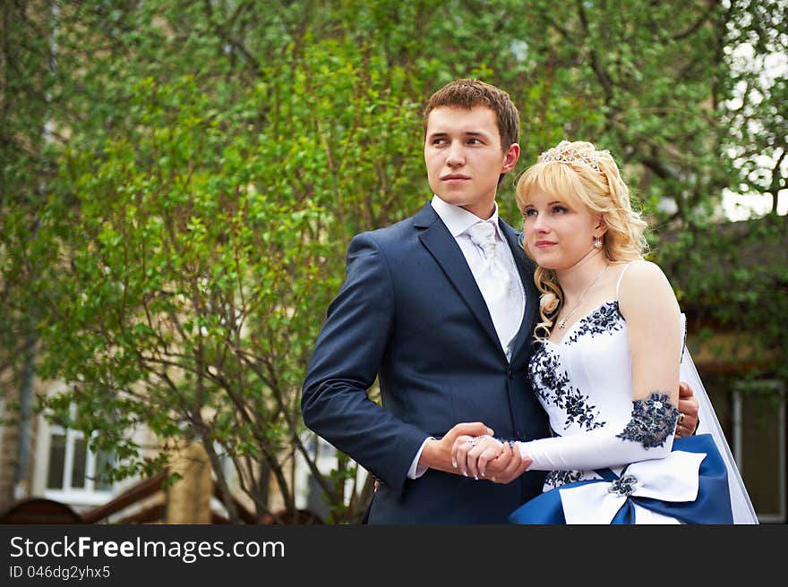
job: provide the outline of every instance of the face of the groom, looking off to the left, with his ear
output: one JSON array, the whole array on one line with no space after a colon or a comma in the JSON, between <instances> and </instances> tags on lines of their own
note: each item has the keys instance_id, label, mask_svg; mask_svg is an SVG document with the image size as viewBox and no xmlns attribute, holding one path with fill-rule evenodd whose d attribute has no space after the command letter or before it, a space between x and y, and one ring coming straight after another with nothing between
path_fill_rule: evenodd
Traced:
<instances>
[{"instance_id":1,"label":"face of the groom, looking off to the left, with his ear","mask_svg":"<svg viewBox=\"0 0 788 587\"><path fill-rule=\"evenodd\" d=\"M518 157L518 144L501 148L491 108L440 106L430 113L424 162L430 187L441 200L477 217L491 217L498 178L517 165Z\"/></svg>"}]
</instances>

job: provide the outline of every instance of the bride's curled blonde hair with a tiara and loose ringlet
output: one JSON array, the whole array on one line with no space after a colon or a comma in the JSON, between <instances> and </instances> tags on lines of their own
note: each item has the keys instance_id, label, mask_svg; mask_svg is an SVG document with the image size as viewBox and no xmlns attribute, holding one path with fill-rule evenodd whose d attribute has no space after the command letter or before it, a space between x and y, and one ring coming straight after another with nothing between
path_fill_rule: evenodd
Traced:
<instances>
[{"instance_id":1,"label":"bride's curled blonde hair with a tiara and loose ringlet","mask_svg":"<svg viewBox=\"0 0 788 587\"><path fill-rule=\"evenodd\" d=\"M647 224L632 209L630 190L621 179L610 152L597 150L590 142L561 140L557 146L544 151L535 165L520 175L517 202L524 216L536 190L570 204L579 202L592 212L601 214L607 226L607 232L602 236L602 251L612 263L640 259L647 250ZM528 257L534 259L528 243L523 242L523 246ZM589 250L591 247L589 242ZM550 336L553 319L563 303L563 292L552 269L537 266L534 281L541 294L541 321L536 325L534 335L537 340L544 340Z\"/></svg>"}]
</instances>

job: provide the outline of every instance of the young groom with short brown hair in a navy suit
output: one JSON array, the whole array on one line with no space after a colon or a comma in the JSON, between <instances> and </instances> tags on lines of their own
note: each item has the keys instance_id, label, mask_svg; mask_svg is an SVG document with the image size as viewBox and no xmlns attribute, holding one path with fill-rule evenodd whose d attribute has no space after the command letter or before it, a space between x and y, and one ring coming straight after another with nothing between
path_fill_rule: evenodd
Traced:
<instances>
[{"instance_id":1,"label":"young groom with short brown hair in a navy suit","mask_svg":"<svg viewBox=\"0 0 788 587\"><path fill-rule=\"evenodd\" d=\"M379 480L369 523L506 523L542 491L544 472L524 472L517 450L480 480L458 474L450 455L461 434L549 433L527 379L534 265L495 203L518 162L518 127L501 89L439 89L424 113L433 199L350 242L301 406L310 429ZM367 396L376 378L382 407Z\"/></svg>"}]
</instances>

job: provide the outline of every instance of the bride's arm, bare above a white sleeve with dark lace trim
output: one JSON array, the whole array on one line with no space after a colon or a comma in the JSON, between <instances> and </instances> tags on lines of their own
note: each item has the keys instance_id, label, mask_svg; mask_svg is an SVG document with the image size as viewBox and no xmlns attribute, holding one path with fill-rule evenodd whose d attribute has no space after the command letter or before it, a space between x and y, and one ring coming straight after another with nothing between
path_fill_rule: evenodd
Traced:
<instances>
[{"instance_id":1,"label":"bride's arm, bare above a white sleeve with dark lace trim","mask_svg":"<svg viewBox=\"0 0 788 587\"><path fill-rule=\"evenodd\" d=\"M679 416L682 340L678 302L662 270L643 261L627 270L619 308L627 320L632 363L629 418L582 434L518 442L522 455L533 461L529 470L598 469L670 453ZM484 444L491 445L492 439ZM473 447L458 443L456 448L460 468L467 463L468 471L475 474L477 464L469 450Z\"/></svg>"}]
</instances>

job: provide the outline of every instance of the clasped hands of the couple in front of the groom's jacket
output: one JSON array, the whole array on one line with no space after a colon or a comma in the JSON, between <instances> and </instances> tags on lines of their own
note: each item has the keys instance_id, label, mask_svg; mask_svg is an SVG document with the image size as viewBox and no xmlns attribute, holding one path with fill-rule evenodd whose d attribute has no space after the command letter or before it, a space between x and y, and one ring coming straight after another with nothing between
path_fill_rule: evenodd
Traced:
<instances>
[{"instance_id":1,"label":"clasped hands of the couple in front of the groom's jacket","mask_svg":"<svg viewBox=\"0 0 788 587\"><path fill-rule=\"evenodd\" d=\"M462 435L451 447L451 464L476 481L481 478L509 483L527 470L531 459L523 458L513 442L504 443L489 435Z\"/></svg>"}]
</instances>

